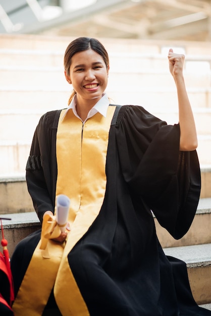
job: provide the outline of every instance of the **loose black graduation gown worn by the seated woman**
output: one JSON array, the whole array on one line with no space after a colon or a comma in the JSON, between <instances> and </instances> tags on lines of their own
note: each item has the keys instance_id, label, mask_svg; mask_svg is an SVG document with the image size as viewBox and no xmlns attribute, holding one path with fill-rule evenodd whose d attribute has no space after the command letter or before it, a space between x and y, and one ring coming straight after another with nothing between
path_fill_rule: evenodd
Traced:
<instances>
[{"instance_id":1,"label":"loose black graduation gown worn by the seated woman","mask_svg":"<svg viewBox=\"0 0 211 316\"><path fill-rule=\"evenodd\" d=\"M55 207L59 114L40 119L27 163L28 189L40 221ZM104 201L68 255L91 316L211 315L195 303L185 263L165 256L151 214L176 239L194 218L200 169L196 151L179 151L179 138L179 125L167 125L138 106L121 107L111 125ZM12 256L16 291L39 234L19 243Z\"/></svg>"}]
</instances>

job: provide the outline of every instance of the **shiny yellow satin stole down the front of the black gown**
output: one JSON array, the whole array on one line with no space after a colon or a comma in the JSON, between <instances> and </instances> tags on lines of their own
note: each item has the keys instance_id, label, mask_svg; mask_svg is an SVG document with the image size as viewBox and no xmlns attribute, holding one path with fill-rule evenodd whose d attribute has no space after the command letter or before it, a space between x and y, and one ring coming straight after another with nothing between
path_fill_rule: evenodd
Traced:
<instances>
[{"instance_id":1,"label":"shiny yellow satin stole down the front of the black gown","mask_svg":"<svg viewBox=\"0 0 211 316\"><path fill-rule=\"evenodd\" d=\"M54 287L64 316L88 316L89 311L68 263L68 254L99 214L105 193L105 161L109 130L116 107L107 117L99 113L84 126L69 110L61 112L57 131L58 178L56 196L71 199L66 244L47 241L47 254L38 243L13 305L16 316L40 316ZM83 126L83 129L82 129ZM51 220L51 219L48 219ZM52 237L51 237L52 238Z\"/></svg>"}]
</instances>

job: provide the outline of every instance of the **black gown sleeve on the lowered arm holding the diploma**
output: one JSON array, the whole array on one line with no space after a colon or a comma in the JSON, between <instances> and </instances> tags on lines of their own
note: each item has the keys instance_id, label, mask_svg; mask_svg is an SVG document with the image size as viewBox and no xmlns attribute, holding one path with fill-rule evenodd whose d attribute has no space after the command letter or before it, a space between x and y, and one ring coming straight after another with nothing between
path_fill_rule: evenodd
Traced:
<instances>
[{"instance_id":1,"label":"black gown sleeve on the lowered arm holding the diploma","mask_svg":"<svg viewBox=\"0 0 211 316\"><path fill-rule=\"evenodd\" d=\"M30 155L26 165L26 181L40 222L46 210L54 213L57 177L56 111L44 114L34 132Z\"/></svg>"}]
</instances>

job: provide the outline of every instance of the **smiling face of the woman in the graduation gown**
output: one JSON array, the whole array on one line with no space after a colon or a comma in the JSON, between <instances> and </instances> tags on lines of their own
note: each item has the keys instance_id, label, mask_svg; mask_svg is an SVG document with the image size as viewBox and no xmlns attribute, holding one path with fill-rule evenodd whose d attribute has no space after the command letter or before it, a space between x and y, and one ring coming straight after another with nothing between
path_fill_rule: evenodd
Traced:
<instances>
[{"instance_id":1,"label":"smiling face of the woman in the graduation gown","mask_svg":"<svg viewBox=\"0 0 211 316\"><path fill-rule=\"evenodd\" d=\"M102 57L92 49L77 52L71 60L70 75L65 73L77 93L77 103L93 99L97 102L107 87L108 74Z\"/></svg>"}]
</instances>

